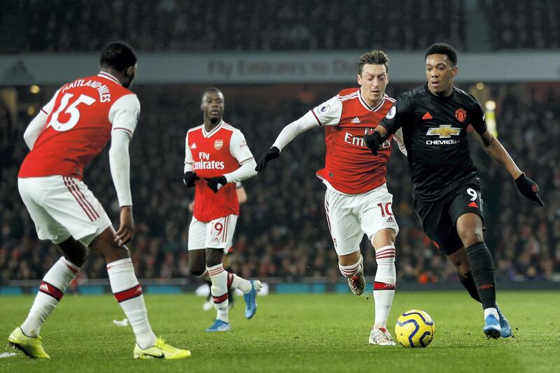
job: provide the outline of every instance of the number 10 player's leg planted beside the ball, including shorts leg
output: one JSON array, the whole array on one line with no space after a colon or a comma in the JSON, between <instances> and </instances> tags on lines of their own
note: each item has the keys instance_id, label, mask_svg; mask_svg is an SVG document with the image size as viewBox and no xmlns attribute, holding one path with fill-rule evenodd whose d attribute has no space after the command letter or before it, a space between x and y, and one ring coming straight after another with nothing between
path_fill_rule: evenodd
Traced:
<instances>
[{"instance_id":1,"label":"number 10 player's leg planted beside the ball, including shorts leg","mask_svg":"<svg viewBox=\"0 0 560 373\"><path fill-rule=\"evenodd\" d=\"M360 224L375 251L374 324L370 332L370 344L393 346L395 342L387 330L387 319L391 312L397 273L395 269L395 239L398 225L393 216L393 195L386 186L360 196Z\"/></svg>"}]
</instances>

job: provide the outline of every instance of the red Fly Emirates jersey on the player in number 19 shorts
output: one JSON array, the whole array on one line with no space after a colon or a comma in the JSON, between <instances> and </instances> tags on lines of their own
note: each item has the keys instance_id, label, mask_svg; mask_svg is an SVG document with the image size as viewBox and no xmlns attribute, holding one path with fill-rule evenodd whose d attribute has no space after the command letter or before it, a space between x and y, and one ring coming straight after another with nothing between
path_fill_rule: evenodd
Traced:
<instances>
[{"instance_id":1,"label":"red Fly Emirates jersey on the player in number 19 shorts","mask_svg":"<svg viewBox=\"0 0 560 373\"><path fill-rule=\"evenodd\" d=\"M235 183L227 183L214 193L204 178L222 176L253 159L245 137L239 129L222 121L211 132L204 125L189 129L186 136L185 163L200 178L195 184L193 216L209 222L228 215L239 215Z\"/></svg>"}]
</instances>

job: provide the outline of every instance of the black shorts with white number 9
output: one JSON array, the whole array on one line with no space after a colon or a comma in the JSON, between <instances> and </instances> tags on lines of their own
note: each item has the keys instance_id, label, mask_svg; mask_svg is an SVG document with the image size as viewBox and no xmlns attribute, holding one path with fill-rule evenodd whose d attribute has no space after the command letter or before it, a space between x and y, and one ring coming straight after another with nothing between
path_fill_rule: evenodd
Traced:
<instances>
[{"instance_id":1,"label":"black shorts with white number 9","mask_svg":"<svg viewBox=\"0 0 560 373\"><path fill-rule=\"evenodd\" d=\"M457 219L465 213L476 213L484 223L482 203L480 185L477 180L473 180L437 201L414 199L414 211L422 220L424 232L435 247L445 255L451 255L463 247L455 227Z\"/></svg>"}]
</instances>

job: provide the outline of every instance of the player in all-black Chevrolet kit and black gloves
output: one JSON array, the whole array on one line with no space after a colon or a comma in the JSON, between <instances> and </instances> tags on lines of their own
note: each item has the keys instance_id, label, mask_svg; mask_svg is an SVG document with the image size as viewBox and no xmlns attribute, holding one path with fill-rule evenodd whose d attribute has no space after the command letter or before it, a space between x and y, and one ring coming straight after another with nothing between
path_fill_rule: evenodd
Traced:
<instances>
[{"instance_id":1,"label":"player in all-black Chevrolet kit and black gloves","mask_svg":"<svg viewBox=\"0 0 560 373\"><path fill-rule=\"evenodd\" d=\"M482 235L482 197L477 169L470 159L467 127L482 148L500 162L522 195L543 206L538 185L517 167L500 141L486 128L484 113L472 95L453 86L457 54L437 43L426 51L427 84L400 95L372 134L372 153L402 127L414 185L414 209L434 245L457 267L470 296L482 303L484 335L510 337L510 324L496 305L491 254Z\"/></svg>"}]
</instances>

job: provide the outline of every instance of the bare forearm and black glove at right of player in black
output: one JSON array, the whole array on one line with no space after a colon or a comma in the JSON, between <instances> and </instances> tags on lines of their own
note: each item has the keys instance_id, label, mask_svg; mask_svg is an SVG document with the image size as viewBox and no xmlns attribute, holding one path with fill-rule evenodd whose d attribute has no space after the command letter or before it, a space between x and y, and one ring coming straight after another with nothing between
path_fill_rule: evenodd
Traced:
<instances>
[{"instance_id":1,"label":"bare forearm and black glove at right of player in black","mask_svg":"<svg viewBox=\"0 0 560 373\"><path fill-rule=\"evenodd\" d=\"M542 199L540 199L537 183L528 178L524 172L517 167L510 153L507 153L507 150L505 150L500 141L488 130L478 135L484 151L507 169L507 172L509 172L515 180L515 185L521 195L536 202L539 206L545 206Z\"/></svg>"}]
</instances>

